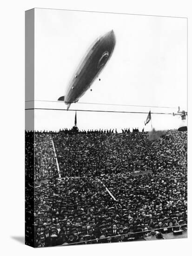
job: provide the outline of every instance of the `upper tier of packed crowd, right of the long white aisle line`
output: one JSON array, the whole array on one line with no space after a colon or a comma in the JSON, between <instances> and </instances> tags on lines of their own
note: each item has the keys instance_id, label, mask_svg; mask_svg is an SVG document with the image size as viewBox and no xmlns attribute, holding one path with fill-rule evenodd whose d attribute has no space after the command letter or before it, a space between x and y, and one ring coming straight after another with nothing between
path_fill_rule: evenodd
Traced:
<instances>
[{"instance_id":1,"label":"upper tier of packed crowd, right of the long white aisle line","mask_svg":"<svg viewBox=\"0 0 192 256\"><path fill-rule=\"evenodd\" d=\"M186 164L186 134L168 131L157 141L148 133L55 134L53 141L62 176L122 171L178 169Z\"/></svg>"}]
</instances>

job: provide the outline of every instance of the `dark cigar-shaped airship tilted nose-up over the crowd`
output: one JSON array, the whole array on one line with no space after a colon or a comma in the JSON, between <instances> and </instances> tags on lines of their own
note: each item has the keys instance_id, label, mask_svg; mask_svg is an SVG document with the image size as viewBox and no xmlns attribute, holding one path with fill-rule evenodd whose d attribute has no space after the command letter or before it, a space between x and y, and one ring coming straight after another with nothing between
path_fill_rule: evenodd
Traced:
<instances>
[{"instance_id":1,"label":"dark cigar-shaped airship tilted nose-up over the crowd","mask_svg":"<svg viewBox=\"0 0 192 256\"><path fill-rule=\"evenodd\" d=\"M79 101L80 97L86 93L86 90L99 76L113 54L115 42L115 34L111 30L95 40L87 50L67 86L65 96L58 99L58 101L66 103L67 110L71 103Z\"/></svg>"}]
</instances>

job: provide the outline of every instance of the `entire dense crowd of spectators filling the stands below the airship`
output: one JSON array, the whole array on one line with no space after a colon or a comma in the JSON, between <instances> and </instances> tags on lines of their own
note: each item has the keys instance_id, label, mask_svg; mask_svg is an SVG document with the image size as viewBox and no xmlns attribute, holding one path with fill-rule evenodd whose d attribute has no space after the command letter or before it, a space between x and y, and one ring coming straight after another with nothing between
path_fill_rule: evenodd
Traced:
<instances>
[{"instance_id":1,"label":"entire dense crowd of spectators filling the stands below the airship","mask_svg":"<svg viewBox=\"0 0 192 256\"><path fill-rule=\"evenodd\" d=\"M161 238L187 224L187 132L37 132L34 177L48 179L35 182L36 247Z\"/></svg>"}]
</instances>

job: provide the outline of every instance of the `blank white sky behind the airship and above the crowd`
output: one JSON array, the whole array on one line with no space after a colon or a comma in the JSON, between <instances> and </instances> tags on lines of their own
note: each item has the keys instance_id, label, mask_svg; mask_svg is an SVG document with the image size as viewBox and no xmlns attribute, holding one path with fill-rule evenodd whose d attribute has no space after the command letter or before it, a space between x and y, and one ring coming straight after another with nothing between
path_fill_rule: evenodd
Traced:
<instances>
[{"instance_id":1,"label":"blank white sky behind the airship and above the crowd","mask_svg":"<svg viewBox=\"0 0 192 256\"><path fill-rule=\"evenodd\" d=\"M100 35L113 29L111 59L79 102L144 106L152 112L187 108L187 20L129 14L35 9L35 100L56 101L82 56ZM99 81L100 78L100 81ZM29 100L29 99L26 99ZM29 107L30 103L26 105ZM65 108L61 102L35 102L36 108ZM70 109L149 112L149 107L72 104ZM74 125L73 111L35 111L36 130ZM147 114L78 112L79 129L142 129ZM155 128L178 128L172 115L152 115ZM146 130L151 128L146 126Z\"/></svg>"}]
</instances>

